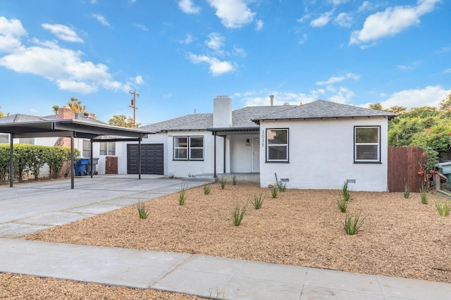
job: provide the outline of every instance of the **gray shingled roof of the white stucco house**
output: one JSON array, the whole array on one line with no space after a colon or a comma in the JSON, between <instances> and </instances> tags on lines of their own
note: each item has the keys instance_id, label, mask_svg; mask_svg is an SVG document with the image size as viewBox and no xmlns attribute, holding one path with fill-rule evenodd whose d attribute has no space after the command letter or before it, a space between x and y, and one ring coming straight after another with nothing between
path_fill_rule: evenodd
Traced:
<instances>
[{"instance_id":1,"label":"gray shingled roof of the white stucco house","mask_svg":"<svg viewBox=\"0 0 451 300\"><path fill-rule=\"evenodd\" d=\"M385 116L395 118L395 113L376 111L330 101L318 100L302 106L247 106L232 112L234 128L258 128L260 120L308 119L308 118L351 118ZM142 126L154 132L164 130L205 130L213 127L213 113L185 115L180 118Z\"/></svg>"}]
</instances>

